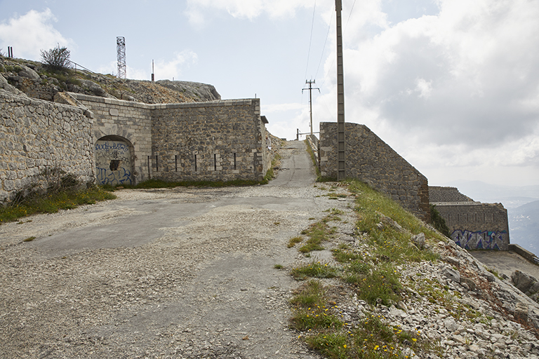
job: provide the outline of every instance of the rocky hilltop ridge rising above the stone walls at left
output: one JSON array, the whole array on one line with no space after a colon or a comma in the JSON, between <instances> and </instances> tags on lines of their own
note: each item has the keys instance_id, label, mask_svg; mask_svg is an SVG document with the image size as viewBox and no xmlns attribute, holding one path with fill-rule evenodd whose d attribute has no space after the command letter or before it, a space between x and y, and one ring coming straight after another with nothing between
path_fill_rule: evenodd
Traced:
<instances>
[{"instance_id":1,"label":"rocky hilltop ridge rising above the stone walls at left","mask_svg":"<svg viewBox=\"0 0 539 359\"><path fill-rule=\"evenodd\" d=\"M53 101L54 95L69 91L148 104L220 100L215 87L192 81L145 81L117 79L110 74L74 66L51 70L41 62L0 56L0 88L15 95Z\"/></svg>"}]
</instances>

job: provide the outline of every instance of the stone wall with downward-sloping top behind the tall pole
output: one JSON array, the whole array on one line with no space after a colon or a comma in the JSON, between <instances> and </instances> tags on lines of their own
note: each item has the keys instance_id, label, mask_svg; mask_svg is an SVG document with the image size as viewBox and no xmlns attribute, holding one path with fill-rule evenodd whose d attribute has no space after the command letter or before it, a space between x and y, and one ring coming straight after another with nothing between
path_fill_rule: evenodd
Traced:
<instances>
[{"instance_id":1,"label":"stone wall with downward-sloping top behind the tall pole","mask_svg":"<svg viewBox=\"0 0 539 359\"><path fill-rule=\"evenodd\" d=\"M364 125L346 123L346 176L387 194L425 222L430 221L427 178ZM323 177L337 177L337 123L320 123Z\"/></svg>"}]
</instances>

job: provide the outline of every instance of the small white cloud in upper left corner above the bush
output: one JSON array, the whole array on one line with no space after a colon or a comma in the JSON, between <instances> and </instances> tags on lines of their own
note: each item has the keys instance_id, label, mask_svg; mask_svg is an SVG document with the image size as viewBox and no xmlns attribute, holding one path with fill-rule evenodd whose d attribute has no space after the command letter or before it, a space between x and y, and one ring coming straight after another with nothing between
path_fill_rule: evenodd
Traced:
<instances>
[{"instance_id":1,"label":"small white cloud in upper left corner above the bush","mask_svg":"<svg viewBox=\"0 0 539 359\"><path fill-rule=\"evenodd\" d=\"M13 47L15 57L32 60L40 59L40 50L60 46L73 46L73 41L66 39L53 27L56 21L50 9L43 12L31 10L25 15L11 18L0 24L0 47L6 52L7 46Z\"/></svg>"}]
</instances>

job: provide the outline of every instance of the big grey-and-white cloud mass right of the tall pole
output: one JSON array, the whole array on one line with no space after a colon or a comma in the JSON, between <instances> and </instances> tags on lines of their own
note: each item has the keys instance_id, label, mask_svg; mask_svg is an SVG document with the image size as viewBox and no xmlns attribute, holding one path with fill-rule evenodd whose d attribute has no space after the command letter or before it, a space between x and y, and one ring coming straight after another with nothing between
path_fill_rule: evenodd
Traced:
<instances>
[{"instance_id":1,"label":"big grey-and-white cloud mass right of the tall pole","mask_svg":"<svg viewBox=\"0 0 539 359\"><path fill-rule=\"evenodd\" d=\"M440 8L347 42L347 111L377 111L375 123L467 149L529 133L539 119L539 2L443 0Z\"/></svg>"}]
</instances>

